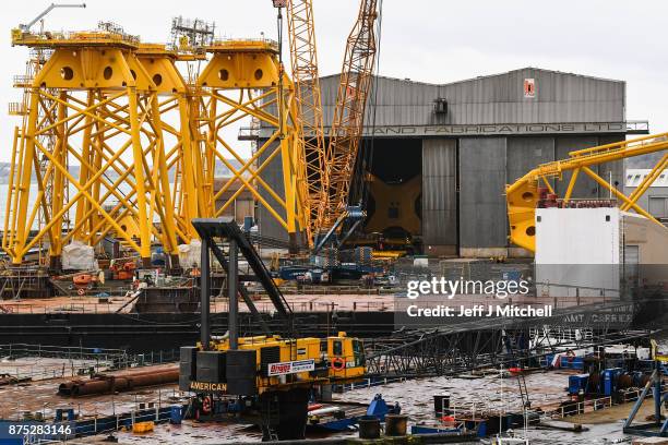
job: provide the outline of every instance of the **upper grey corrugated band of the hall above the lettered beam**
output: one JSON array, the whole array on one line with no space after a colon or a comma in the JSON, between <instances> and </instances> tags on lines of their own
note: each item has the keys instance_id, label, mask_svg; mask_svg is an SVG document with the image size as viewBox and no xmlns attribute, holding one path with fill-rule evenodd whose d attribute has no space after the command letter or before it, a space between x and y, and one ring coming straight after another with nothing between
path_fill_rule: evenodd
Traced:
<instances>
[{"instance_id":1,"label":"upper grey corrugated band of the hall above the lettered beam","mask_svg":"<svg viewBox=\"0 0 668 445\"><path fill-rule=\"evenodd\" d=\"M536 95L524 97L524 80ZM325 124L331 122L338 74L321 77ZM448 84L377 76L377 125L623 122L625 82L524 68ZM448 101L445 115L434 100ZM370 107L368 107L370 109ZM370 124L370 119L367 124Z\"/></svg>"}]
</instances>

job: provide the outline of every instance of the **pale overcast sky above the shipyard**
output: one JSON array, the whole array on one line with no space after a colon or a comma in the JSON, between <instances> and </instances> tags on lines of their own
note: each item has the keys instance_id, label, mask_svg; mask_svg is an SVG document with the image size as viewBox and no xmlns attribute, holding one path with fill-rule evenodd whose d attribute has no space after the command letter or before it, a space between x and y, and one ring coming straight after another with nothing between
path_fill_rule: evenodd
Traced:
<instances>
[{"instance_id":1,"label":"pale overcast sky above the shipyard","mask_svg":"<svg viewBox=\"0 0 668 445\"><path fill-rule=\"evenodd\" d=\"M76 1L76 0L74 0ZM380 1L380 0L379 0ZM2 2L0 94L22 74L27 49L12 48L10 29L51 0ZM68 0L72 2L72 0ZM345 38L358 0L313 0L321 74L341 70ZM88 0L86 9L60 9L46 17L52 31L92 29L100 20L122 25L144 41L165 43L172 16L215 21L225 37L275 38L271 0ZM627 81L627 118L648 119L654 133L668 131L668 2L660 0L385 0L380 74L445 83L523 67ZM37 26L37 25L36 25ZM9 160L15 118L0 109L0 160Z\"/></svg>"}]
</instances>

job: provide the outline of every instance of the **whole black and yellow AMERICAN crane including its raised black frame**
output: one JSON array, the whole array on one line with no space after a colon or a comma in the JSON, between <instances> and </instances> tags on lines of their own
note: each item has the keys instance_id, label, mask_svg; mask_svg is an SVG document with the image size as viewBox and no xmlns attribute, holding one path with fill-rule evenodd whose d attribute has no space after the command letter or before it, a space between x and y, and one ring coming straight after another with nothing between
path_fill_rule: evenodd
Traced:
<instances>
[{"instance_id":1,"label":"whole black and yellow AMERICAN crane including its raised black frame","mask_svg":"<svg viewBox=\"0 0 668 445\"><path fill-rule=\"evenodd\" d=\"M302 438L311 389L319 385L359 380L366 374L361 340L338 333L326 338L299 337L293 311L253 245L232 218L193 219L202 240L201 339L182 347L179 387L198 394L194 417L236 411L254 419L264 438ZM218 244L227 243L227 255ZM270 334L242 284L238 282L238 252L264 287L284 336ZM213 337L210 325L210 254L228 277L228 333ZM239 337L239 296L266 335Z\"/></svg>"}]
</instances>

